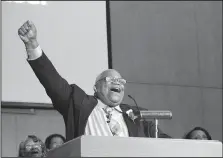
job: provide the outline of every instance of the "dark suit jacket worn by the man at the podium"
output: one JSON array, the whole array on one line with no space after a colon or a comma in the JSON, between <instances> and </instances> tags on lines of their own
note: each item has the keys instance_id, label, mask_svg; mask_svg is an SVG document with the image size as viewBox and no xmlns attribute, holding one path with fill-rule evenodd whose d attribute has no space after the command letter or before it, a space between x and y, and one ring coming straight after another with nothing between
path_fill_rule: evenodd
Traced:
<instances>
[{"instance_id":1,"label":"dark suit jacket worn by the man at the podium","mask_svg":"<svg viewBox=\"0 0 223 158\"><path fill-rule=\"evenodd\" d=\"M28 61L37 78L44 86L47 95L51 98L54 108L63 116L66 127L66 140L71 140L84 134L89 115L97 105L97 98L87 95L76 84L69 85L54 68L47 56ZM132 108L121 104L123 117L130 137L154 137L154 123L132 121L125 111ZM160 131L160 130L159 130ZM169 138L162 131L159 137Z\"/></svg>"}]
</instances>

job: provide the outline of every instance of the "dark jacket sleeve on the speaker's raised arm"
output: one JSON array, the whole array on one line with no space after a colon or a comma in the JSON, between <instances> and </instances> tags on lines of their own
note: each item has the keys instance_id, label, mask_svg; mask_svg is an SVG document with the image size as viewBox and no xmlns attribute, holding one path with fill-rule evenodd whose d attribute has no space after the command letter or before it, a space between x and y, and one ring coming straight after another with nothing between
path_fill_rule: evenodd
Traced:
<instances>
[{"instance_id":1,"label":"dark jacket sleeve on the speaker's raised arm","mask_svg":"<svg viewBox=\"0 0 223 158\"><path fill-rule=\"evenodd\" d=\"M44 52L40 58L28 60L28 63L51 98L54 108L66 115L72 87L59 75Z\"/></svg>"}]
</instances>

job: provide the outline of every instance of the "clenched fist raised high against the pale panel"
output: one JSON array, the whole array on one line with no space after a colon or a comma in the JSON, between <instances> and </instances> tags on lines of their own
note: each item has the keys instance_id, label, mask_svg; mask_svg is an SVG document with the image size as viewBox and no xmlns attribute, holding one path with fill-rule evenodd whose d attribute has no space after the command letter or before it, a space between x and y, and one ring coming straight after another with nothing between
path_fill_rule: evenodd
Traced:
<instances>
[{"instance_id":1,"label":"clenched fist raised high against the pale panel","mask_svg":"<svg viewBox=\"0 0 223 158\"><path fill-rule=\"evenodd\" d=\"M18 35L24 44L32 43L36 41L37 30L35 25L31 21L26 21L18 30Z\"/></svg>"}]
</instances>

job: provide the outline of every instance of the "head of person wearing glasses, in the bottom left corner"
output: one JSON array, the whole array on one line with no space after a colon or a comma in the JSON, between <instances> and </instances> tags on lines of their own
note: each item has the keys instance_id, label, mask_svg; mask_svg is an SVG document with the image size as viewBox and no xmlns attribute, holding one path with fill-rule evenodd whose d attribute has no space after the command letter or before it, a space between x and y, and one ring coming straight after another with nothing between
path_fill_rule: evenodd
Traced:
<instances>
[{"instance_id":1,"label":"head of person wearing glasses, in the bottom left corner","mask_svg":"<svg viewBox=\"0 0 223 158\"><path fill-rule=\"evenodd\" d=\"M23 143L23 157L46 156L45 144L35 135L29 135Z\"/></svg>"}]
</instances>

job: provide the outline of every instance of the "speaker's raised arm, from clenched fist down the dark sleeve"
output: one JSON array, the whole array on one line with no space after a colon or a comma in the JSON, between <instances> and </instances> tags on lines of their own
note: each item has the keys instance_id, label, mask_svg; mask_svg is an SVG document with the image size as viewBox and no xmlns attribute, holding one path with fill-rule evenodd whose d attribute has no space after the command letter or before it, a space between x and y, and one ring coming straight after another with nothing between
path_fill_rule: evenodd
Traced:
<instances>
[{"instance_id":1,"label":"speaker's raised arm, from clenched fist down the dark sleeve","mask_svg":"<svg viewBox=\"0 0 223 158\"><path fill-rule=\"evenodd\" d=\"M54 68L37 41L37 30L31 21L25 22L18 30L19 37L25 44L28 62L44 86L54 107L63 115L67 112L71 86Z\"/></svg>"}]
</instances>

